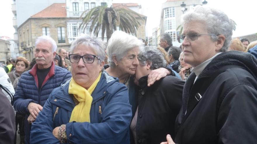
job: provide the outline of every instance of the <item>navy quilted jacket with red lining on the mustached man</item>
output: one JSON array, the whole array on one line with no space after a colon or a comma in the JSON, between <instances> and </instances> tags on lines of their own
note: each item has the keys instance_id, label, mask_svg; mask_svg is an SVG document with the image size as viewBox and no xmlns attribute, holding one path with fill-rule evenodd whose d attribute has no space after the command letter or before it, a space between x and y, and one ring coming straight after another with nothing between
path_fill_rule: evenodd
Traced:
<instances>
[{"instance_id":1,"label":"navy quilted jacket with red lining on the mustached man","mask_svg":"<svg viewBox=\"0 0 257 144\"><path fill-rule=\"evenodd\" d=\"M71 78L71 73L59 66L52 63L51 69L46 76L40 91L38 90L38 79L37 79L37 64L34 67L24 72L18 83L18 87L14 94L14 108L19 113L25 114L25 141L29 142L29 133L31 125L28 123L27 118L29 116L29 111L27 109L30 102L34 102L44 106L48 96L54 88L61 85Z\"/></svg>"}]
</instances>

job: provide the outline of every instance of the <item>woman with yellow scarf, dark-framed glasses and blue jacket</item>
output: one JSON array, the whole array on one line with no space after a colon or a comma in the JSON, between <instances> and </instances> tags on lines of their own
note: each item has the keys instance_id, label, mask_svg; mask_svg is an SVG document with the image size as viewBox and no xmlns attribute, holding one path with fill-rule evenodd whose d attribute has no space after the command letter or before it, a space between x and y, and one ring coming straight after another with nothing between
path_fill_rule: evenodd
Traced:
<instances>
[{"instance_id":1,"label":"woman with yellow scarf, dark-framed glasses and blue jacket","mask_svg":"<svg viewBox=\"0 0 257 144\"><path fill-rule=\"evenodd\" d=\"M72 42L69 59L72 78L50 94L32 124L30 143L128 144L128 90L103 71L104 42L81 36Z\"/></svg>"}]
</instances>

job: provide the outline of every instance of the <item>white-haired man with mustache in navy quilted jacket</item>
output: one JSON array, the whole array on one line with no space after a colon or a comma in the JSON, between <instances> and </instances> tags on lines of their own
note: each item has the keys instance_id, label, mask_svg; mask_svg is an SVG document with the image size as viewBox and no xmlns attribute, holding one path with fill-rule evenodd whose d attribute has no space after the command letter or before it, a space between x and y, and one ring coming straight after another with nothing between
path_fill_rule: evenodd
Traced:
<instances>
[{"instance_id":1,"label":"white-haired man with mustache in navy quilted jacket","mask_svg":"<svg viewBox=\"0 0 257 144\"><path fill-rule=\"evenodd\" d=\"M14 95L14 108L25 114L25 143L29 143L31 123L54 88L69 80L71 74L53 63L57 45L49 36L40 36L35 42L34 56L36 64L24 72Z\"/></svg>"}]
</instances>

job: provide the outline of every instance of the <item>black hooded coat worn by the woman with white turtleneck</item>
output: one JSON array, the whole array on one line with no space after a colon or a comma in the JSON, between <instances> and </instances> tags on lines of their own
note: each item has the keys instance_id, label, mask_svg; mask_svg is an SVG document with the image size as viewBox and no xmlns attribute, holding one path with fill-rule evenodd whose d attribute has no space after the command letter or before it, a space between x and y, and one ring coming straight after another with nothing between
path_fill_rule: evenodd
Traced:
<instances>
[{"instance_id":1,"label":"black hooded coat worn by the woman with white turtleneck","mask_svg":"<svg viewBox=\"0 0 257 144\"><path fill-rule=\"evenodd\" d=\"M195 81L187 79L183 108L176 120L175 143L257 143L257 60L250 54L224 52L209 63ZM225 65L239 65L219 74L195 105L195 94ZM193 84L194 83L194 84Z\"/></svg>"}]
</instances>

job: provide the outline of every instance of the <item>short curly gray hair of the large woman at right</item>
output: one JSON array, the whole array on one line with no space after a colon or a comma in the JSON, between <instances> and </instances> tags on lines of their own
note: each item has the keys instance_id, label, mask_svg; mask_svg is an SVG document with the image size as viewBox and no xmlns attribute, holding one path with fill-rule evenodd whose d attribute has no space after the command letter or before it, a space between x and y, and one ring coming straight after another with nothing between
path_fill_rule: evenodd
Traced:
<instances>
[{"instance_id":1,"label":"short curly gray hair of the large woman at right","mask_svg":"<svg viewBox=\"0 0 257 144\"><path fill-rule=\"evenodd\" d=\"M188 24L192 21L204 22L205 28L211 35L213 42L218 41L218 36L224 35L225 41L220 52L224 52L228 49L230 41L232 39L232 31L235 30L235 22L228 18L228 16L220 10L205 6L196 6L182 16L182 25Z\"/></svg>"}]
</instances>

